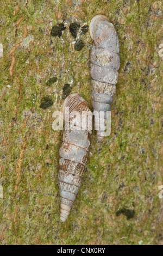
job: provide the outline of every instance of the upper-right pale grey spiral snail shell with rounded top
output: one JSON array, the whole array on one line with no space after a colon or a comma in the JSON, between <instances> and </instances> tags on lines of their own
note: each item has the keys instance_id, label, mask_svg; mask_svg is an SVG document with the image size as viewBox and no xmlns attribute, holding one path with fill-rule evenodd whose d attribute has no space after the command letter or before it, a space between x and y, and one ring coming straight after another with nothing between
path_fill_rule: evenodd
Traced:
<instances>
[{"instance_id":1,"label":"upper-right pale grey spiral snail shell with rounded top","mask_svg":"<svg viewBox=\"0 0 163 256\"><path fill-rule=\"evenodd\" d=\"M93 17L90 34L94 41L91 50L91 90L94 111L110 111L112 96L116 93L120 68L118 35L112 23L103 15ZM106 125L106 115L103 123ZM95 120L96 122L96 120ZM97 131L98 140L104 137L105 126Z\"/></svg>"}]
</instances>

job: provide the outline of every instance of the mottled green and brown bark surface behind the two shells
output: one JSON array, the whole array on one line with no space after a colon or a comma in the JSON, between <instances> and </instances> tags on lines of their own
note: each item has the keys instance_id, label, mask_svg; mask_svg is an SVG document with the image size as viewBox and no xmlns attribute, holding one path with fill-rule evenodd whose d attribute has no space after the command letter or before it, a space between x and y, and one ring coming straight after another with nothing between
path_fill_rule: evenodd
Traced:
<instances>
[{"instance_id":1,"label":"mottled green and brown bark surface behind the two shells","mask_svg":"<svg viewBox=\"0 0 163 256\"><path fill-rule=\"evenodd\" d=\"M2 2L1 244L162 244L162 1ZM52 114L61 109L63 94L67 96L65 84L93 110L93 41L82 27L98 14L108 17L120 40L111 134L97 143L93 131L81 189L62 223L61 132L53 131ZM71 23L80 25L77 38L69 31ZM54 26L60 37L51 34ZM84 43L80 51L74 50L78 39Z\"/></svg>"}]
</instances>

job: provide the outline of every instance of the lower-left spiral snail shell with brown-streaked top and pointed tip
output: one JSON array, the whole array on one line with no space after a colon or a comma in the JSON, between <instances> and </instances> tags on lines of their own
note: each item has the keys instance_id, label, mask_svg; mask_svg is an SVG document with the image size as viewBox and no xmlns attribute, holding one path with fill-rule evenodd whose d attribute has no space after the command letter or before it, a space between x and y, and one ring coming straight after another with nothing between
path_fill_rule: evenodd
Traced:
<instances>
[{"instance_id":1,"label":"lower-left spiral snail shell with brown-streaked top and pointed tip","mask_svg":"<svg viewBox=\"0 0 163 256\"><path fill-rule=\"evenodd\" d=\"M65 111L67 107L69 107L68 113ZM74 111L78 112L80 116L75 116ZM60 169L58 177L61 197L60 219L62 222L66 221L70 214L82 183L92 132L92 113L86 101L79 94L71 94L66 98L63 113L65 122L70 127L62 133L62 144L59 151ZM83 116L83 113L86 115ZM82 121L80 122L81 115ZM72 124L74 125L73 129Z\"/></svg>"}]
</instances>

